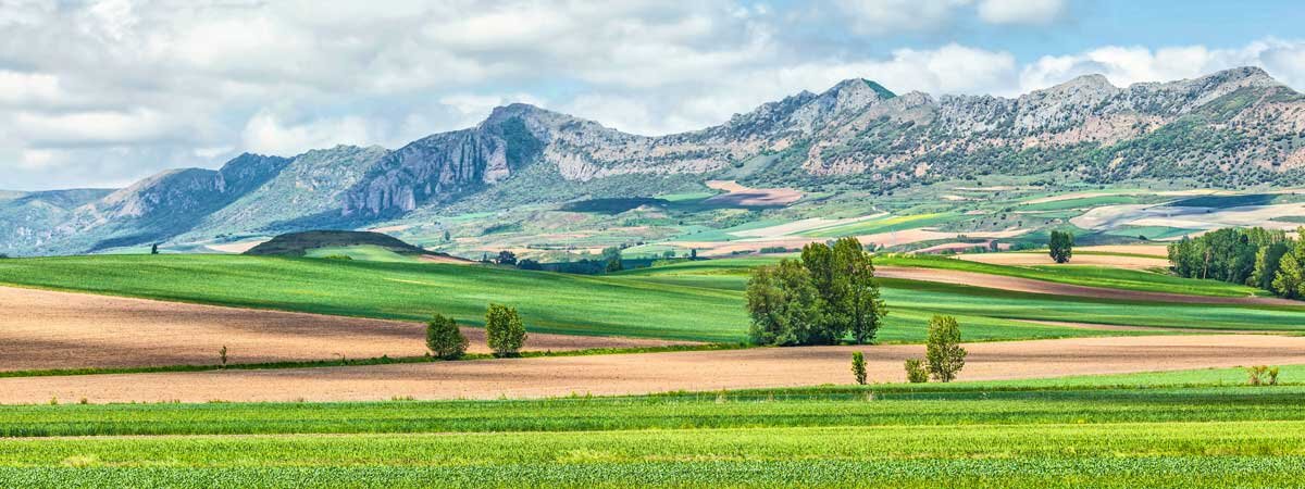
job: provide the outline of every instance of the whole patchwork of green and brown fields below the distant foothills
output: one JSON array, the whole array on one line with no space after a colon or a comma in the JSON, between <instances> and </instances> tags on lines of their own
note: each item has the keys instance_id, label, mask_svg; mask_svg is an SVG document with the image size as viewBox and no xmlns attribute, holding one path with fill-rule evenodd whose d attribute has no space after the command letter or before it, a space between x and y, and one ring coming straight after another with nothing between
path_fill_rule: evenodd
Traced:
<instances>
[{"instance_id":1,"label":"whole patchwork of green and brown fields below the distant foothills","mask_svg":"<svg viewBox=\"0 0 1305 489\"><path fill-rule=\"evenodd\" d=\"M0 261L0 299L40 310L4 331L25 360L0 378L0 485L1305 484L1305 306L1244 286L885 253L881 344L753 348L743 291L775 256L568 275L305 254ZM489 303L538 355L419 356L433 313L483 352ZM898 383L940 313L963 382ZM723 344L658 349L681 340ZM290 361L215 369L219 343ZM591 347L630 349L561 353ZM22 370L82 364L151 369ZM1279 385L1245 385L1261 364Z\"/></svg>"}]
</instances>

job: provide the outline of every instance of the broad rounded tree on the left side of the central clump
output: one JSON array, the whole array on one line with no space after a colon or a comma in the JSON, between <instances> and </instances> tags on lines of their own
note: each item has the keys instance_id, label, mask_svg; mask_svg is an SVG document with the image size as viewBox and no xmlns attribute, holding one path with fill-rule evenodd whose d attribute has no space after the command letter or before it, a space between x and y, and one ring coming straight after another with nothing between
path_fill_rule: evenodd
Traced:
<instances>
[{"instance_id":1,"label":"broad rounded tree on the left side of the central clump","mask_svg":"<svg viewBox=\"0 0 1305 489\"><path fill-rule=\"evenodd\" d=\"M801 263L782 259L775 266L757 267L748 279L746 297L753 343L808 344L821 312L810 273Z\"/></svg>"}]
</instances>

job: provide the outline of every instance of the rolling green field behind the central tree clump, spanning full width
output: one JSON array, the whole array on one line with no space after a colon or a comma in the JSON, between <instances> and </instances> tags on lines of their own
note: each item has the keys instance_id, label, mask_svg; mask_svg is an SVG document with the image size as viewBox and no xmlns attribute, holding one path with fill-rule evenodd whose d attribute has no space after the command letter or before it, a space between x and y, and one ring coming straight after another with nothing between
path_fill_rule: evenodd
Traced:
<instances>
[{"instance_id":1,"label":"rolling green field behind the central tree clump, spanning full width","mask_svg":"<svg viewBox=\"0 0 1305 489\"><path fill-rule=\"evenodd\" d=\"M748 270L769 258L718 259L585 276L440 263L243 256L91 256L0 261L0 283L146 299L390 319L432 313L480 325L489 303L517 306L539 333L705 342L746 339ZM1118 335L1024 321L1298 331L1298 308L1121 303L885 279L878 339L920 342L932 314L954 314L966 340Z\"/></svg>"}]
</instances>

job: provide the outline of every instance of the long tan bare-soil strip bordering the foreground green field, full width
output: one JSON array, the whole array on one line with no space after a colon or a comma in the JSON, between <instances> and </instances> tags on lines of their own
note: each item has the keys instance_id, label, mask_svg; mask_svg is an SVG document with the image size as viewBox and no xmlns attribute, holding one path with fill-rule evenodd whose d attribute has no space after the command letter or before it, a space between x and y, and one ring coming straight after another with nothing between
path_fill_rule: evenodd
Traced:
<instances>
[{"instance_id":1,"label":"long tan bare-soil strip bordering the foreground green field, full width","mask_svg":"<svg viewBox=\"0 0 1305 489\"><path fill-rule=\"evenodd\" d=\"M967 344L960 379L1305 363L1305 338L1161 335ZM902 361L923 346L753 348L514 360L0 379L0 403L51 398L91 403L207 400L495 399L569 394L632 395L673 390L796 387L851 383L853 351L865 352L872 382L902 382Z\"/></svg>"}]
</instances>

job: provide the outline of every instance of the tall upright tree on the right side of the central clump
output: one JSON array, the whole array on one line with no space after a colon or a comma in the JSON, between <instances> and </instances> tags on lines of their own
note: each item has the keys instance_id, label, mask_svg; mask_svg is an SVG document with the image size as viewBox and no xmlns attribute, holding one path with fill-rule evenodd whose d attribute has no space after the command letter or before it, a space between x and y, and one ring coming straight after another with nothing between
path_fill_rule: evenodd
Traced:
<instances>
[{"instance_id":1,"label":"tall upright tree on the right side of the central clump","mask_svg":"<svg viewBox=\"0 0 1305 489\"><path fill-rule=\"evenodd\" d=\"M833 262L840 303L834 308L844 325L838 331L852 331L859 344L870 343L880 330L887 306L880 299L880 284L874 279L873 257L855 237L834 243Z\"/></svg>"}]
</instances>

